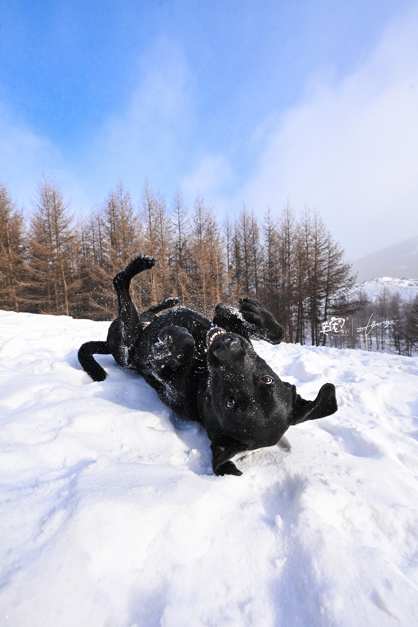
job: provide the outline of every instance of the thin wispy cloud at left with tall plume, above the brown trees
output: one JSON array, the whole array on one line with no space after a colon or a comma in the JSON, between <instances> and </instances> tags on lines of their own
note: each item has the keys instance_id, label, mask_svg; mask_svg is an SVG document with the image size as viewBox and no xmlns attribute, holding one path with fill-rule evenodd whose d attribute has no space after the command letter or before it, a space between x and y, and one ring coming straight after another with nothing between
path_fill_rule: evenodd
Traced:
<instances>
[{"instance_id":1,"label":"thin wispy cloud at left with tall plume, above the brown trees","mask_svg":"<svg viewBox=\"0 0 418 627\"><path fill-rule=\"evenodd\" d=\"M53 173L73 209L84 211L101 201L118 178L130 187L134 201L145 176L155 187L165 183L174 190L185 169L182 140L193 121L186 83L192 82L179 50L162 38L155 41L132 78L135 89L125 112L109 117L95 139L66 158L48 137L13 119L0 103L1 180L19 204L30 206L42 172Z\"/></svg>"}]
</instances>

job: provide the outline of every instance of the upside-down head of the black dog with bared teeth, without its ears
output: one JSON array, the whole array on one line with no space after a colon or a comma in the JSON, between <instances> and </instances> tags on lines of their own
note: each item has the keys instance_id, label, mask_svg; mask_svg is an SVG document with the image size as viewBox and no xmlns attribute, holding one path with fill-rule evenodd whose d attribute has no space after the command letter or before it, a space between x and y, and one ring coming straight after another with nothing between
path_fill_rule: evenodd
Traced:
<instances>
[{"instance_id":1,"label":"upside-down head of the black dog with bared teeth, without its ears","mask_svg":"<svg viewBox=\"0 0 418 627\"><path fill-rule=\"evenodd\" d=\"M276 444L290 424L294 386L279 379L251 342L220 328L207 334L206 359L199 410L211 441L229 435L248 448Z\"/></svg>"}]
</instances>

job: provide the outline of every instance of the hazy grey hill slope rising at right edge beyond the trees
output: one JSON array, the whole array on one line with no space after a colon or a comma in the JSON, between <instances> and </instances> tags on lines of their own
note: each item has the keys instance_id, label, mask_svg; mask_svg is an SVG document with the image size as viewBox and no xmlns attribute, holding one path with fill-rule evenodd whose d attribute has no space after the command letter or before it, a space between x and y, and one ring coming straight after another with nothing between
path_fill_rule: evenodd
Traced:
<instances>
[{"instance_id":1,"label":"hazy grey hill slope rising at right edge beyond the trees","mask_svg":"<svg viewBox=\"0 0 418 627\"><path fill-rule=\"evenodd\" d=\"M377 277L418 278L418 236L387 246L353 262L357 283Z\"/></svg>"}]
</instances>

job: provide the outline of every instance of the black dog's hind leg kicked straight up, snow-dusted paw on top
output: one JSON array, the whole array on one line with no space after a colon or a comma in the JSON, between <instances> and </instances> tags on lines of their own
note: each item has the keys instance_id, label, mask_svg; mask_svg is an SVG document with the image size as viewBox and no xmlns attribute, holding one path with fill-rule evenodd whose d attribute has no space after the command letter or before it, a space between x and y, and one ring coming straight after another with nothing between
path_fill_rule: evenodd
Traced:
<instances>
[{"instance_id":1,"label":"black dog's hind leg kicked straight up, snow-dusted paw on top","mask_svg":"<svg viewBox=\"0 0 418 627\"><path fill-rule=\"evenodd\" d=\"M132 350L138 342L143 327L137 308L130 297L130 282L135 275L144 270L150 270L154 264L154 257L139 255L128 263L125 270L118 272L113 278L113 287L118 297L118 317L110 325L107 344L117 364L125 368L132 367Z\"/></svg>"}]
</instances>

